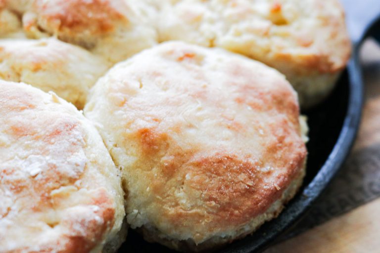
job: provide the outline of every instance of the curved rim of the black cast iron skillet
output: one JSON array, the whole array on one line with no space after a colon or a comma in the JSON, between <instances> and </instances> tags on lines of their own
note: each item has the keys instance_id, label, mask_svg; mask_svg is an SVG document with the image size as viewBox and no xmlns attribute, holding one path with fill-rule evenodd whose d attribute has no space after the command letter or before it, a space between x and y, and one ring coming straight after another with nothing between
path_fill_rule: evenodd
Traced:
<instances>
[{"instance_id":1,"label":"curved rim of the black cast iron skillet","mask_svg":"<svg viewBox=\"0 0 380 253\"><path fill-rule=\"evenodd\" d=\"M234 247L227 247L222 251L223 253L258 253L264 251L274 243L275 239L285 234L292 225L306 214L342 166L355 141L362 113L363 79L358 56L359 46L360 44L354 46L355 50L347 65L349 79L347 112L339 137L325 164L304 188L302 194L298 194L279 217L273 222L264 224L257 234L252 235L253 238L250 242L242 240L234 243Z\"/></svg>"}]
</instances>

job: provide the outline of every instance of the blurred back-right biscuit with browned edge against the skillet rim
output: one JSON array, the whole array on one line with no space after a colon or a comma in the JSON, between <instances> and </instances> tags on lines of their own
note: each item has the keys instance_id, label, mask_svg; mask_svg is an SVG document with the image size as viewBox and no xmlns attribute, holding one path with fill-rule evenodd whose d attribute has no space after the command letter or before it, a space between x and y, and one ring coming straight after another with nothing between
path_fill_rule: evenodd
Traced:
<instances>
[{"instance_id":1,"label":"blurred back-right biscuit with browned edge against the skillet rim","mask_svg":"<svg viewBox=\"0 0 380 253\"><path fill-rule=\"evenodd\" d=\"M351 43L338 0L162 0L160 41L222 47L276 68L302 108L321 102Z\"/></svg>"}]
</instances>

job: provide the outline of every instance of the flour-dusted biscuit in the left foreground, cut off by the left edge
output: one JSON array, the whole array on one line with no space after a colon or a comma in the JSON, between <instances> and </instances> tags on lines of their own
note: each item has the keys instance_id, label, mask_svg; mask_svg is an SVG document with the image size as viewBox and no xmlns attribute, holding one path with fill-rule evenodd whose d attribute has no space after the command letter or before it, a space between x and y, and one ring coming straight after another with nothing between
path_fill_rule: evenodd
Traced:
<instances>
[{"instance_id":1,"label":"flour-dusted biscuit in the left foreground, cut off by the left edge","mask_svg":"<svg viewBox=\"0 0 380 253\"><path fill-rule=\"evenodd\" d=\"M126 233L119 170L95 127L27 84L0 81L0 199L1 253L107 252Z\"/></svg>"}]
</instances>

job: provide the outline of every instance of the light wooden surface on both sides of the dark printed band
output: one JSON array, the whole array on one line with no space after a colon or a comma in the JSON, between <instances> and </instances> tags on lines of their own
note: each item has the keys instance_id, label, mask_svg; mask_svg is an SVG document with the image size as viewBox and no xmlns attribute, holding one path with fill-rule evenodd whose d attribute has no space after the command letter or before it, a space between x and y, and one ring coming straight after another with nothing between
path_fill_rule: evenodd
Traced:
<instances>
[{"instance_id":1,"label":"light wooden surface on both sides of the dark printed band","mask_svg":"<svg viewBox=\"0 0 380 253\"><path fill-rule=\"evenodd\" d=\"M365 104L351 156L380 161L380 48L368 40L361 51ZM379 148L373 148L379 147ZM371 150L371 153L369 151ZM374 152L375 150L375 152ZM349 157L349 159L352 157ZM375 166L380 170L380 162ZM342 168L344 170L344 168ZM380 182L378 182L378 186ZM265 253L380 253L380 199L275 245Z\"/></svg>"}]
</instances>

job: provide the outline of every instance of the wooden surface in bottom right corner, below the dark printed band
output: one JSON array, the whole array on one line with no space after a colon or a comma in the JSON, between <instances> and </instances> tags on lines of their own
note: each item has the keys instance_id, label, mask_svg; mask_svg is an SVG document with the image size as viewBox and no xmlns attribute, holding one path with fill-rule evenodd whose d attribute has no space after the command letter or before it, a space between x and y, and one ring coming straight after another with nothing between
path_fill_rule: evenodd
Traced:
<instances>
[{"instance_id":1,"label":"wooden surface in bottom right corner, below the dark printed band","mask_svg":"<svg viewBox=\"0 0 380 253\"><path fill-rule=\"evenodd\" d=\"M265 253L379 253L380 199L361 206Z\"/></svg>"}]
</instances>

